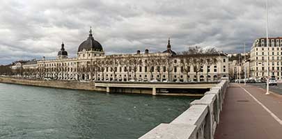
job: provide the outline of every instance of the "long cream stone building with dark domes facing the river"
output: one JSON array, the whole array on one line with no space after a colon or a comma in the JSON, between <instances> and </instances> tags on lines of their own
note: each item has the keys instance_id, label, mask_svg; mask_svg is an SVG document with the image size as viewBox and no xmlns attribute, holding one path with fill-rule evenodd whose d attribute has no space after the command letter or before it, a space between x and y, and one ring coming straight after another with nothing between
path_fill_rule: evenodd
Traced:
<instances>
[{"instance_id":1,"label":"long cream stone building with dark domes facing the river","mask_svg":"<svg viewBox=\"0 0 282 139\"><path fill-rule=\"evenodd\" d=\"M68 58L61 44L56 59L27 63L24 76L37 79L76 81L217 81L228 77L226 54L179 55L171 49L169 39L162 53L120 54L106 56L92 30L81 42L77 58ZM32 69L32 70L29 70Z\"/></svg>"}]
</instances>

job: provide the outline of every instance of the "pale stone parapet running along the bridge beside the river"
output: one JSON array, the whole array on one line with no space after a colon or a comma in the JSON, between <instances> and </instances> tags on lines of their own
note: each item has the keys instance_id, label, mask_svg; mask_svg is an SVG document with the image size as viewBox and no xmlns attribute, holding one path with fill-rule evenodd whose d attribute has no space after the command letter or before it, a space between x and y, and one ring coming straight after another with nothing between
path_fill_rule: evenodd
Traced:
<instances>
[{"instance_id":1,"label":"pale stone parapet running along the bridge beside the river","mask_svg":"<svg viewBox=\"0 0 282 139\"><path fill-rule=\"evenodd\" d=\"M159 124L139 139L213 139L228 83L222 79L171 123Z\"/></svg>"}]
</instances>

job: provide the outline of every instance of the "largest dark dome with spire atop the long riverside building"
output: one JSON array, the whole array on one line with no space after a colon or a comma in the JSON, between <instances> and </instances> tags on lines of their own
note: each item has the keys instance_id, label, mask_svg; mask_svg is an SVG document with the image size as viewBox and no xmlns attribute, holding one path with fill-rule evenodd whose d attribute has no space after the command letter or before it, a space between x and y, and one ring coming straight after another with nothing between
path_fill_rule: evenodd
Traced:
<instances>
[{"instance_id":1,"label":"largest dark dome with spire atop the long riverside building","mask_svg":"<svg viewBox=\"0 0 282 139\"><path fill-rule=\"evenodd\" d=\"M102 45L99 42L97 42L96 40L94 40L93 35L92 35L92 29L90 29L89 31L88 39L79 45L78 51L82 51L83 49L85 49L86 51L91 51L91 50L92 51L103 51Z\"/></svg>"}]
</instances>

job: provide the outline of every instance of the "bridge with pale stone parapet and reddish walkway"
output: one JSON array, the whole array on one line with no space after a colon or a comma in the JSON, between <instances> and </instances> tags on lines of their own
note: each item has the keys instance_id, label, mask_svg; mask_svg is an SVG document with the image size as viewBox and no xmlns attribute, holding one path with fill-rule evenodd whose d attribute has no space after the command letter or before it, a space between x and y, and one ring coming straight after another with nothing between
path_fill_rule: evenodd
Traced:
<instances>
[{"instance_id":1,"label":"bridge with pale stone parapet and reddish walkway","mask_svg":"<svg viewBox=\"0 0 282 139\"><path fill-rule=\"evenodd\" d=\"M140 139L282 138L282 97L253 85L221 81L170 123Z\"/></svg>"}]
</instances>

